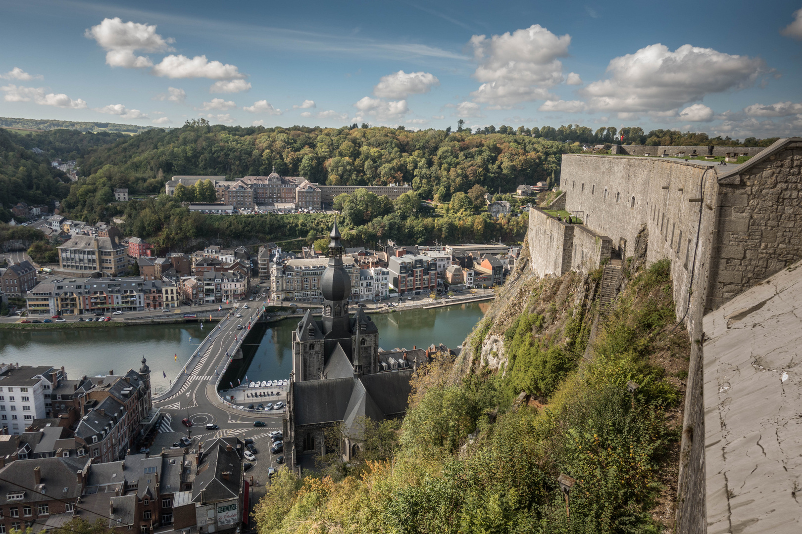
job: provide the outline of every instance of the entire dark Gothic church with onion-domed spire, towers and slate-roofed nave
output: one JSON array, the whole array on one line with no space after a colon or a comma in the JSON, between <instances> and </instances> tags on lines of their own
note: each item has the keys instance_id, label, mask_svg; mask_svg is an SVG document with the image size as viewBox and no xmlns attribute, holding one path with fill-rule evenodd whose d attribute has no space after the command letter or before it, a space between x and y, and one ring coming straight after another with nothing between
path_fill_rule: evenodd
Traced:
<instances>
[{"instance_id":1,"label":"entire dark Gothic church with onion-domed spire, towers and slate-roofed nave","mask_svg":"<svg viewBox=\"0 0 802 534\"><path fill-rule=\"evenodd\" d=\"M302 455L326 454L323 432L339 423L345 424L348 436L340 452L350 460L362 437L361 418L378 421L407 411L414 368L400 359L387 370L379 358L379 328L363 307L350 314L350 277L342 251L335 220L321 278L322 317L314 319L307 310L293 331L288 424L296 462Z\"/></svg>"}]
</instances>

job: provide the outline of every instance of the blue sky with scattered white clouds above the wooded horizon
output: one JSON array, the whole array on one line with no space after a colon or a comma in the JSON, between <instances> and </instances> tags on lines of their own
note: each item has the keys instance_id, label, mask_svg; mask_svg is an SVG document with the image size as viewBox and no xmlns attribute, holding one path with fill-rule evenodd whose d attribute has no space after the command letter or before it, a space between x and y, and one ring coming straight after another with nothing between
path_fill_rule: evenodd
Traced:
<instances>
[{"instance_id":1,"label":"blue sky with scattered white clouds above the wooded horizon","mask_svg":"<svg viewBox=\"0 0 802 534\"><path fill-rule=\"evenodd\" d=\"M0 116L802 135L802 0L0 0Z\"/></svg>"}]
</instances>

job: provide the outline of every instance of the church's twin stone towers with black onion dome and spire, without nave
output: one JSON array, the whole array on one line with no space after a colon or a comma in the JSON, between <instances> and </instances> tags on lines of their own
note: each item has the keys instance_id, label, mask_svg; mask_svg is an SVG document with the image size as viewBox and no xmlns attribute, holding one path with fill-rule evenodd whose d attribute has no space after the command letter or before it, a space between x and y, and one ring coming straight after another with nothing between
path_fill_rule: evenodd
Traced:
<instances>
[{"instance_id":1,"label":"church's twin stone towers with black onion dome and spire, without nave","mask_svg":"<svg viewBox=\"0 0 802 534\"><path fill-rule=\"evenodd\" d=\"M331 228L329 264L321 278L322 318L306 311L293 332L293 371L298 382L375 373L378 370L379 329L357 307L350 316L350 276L342 263L337 220Z\"/></svg>"}]
</instances>

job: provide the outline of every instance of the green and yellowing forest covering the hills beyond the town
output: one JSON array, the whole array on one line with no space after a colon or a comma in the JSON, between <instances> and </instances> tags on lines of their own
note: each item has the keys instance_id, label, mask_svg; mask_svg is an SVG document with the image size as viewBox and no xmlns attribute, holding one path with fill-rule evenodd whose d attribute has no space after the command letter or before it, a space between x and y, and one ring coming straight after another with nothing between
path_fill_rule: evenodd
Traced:
<instances>
[{"instance_id":1,"label":"green and yellowing forest covering the hills beyond the town","mask_svg":"<svg viewBox=\"0 0 802 534\"><path fill-rule=\"evenodd\" d=\"M737 139L709 139L691 132L644 133L639 127L618 131L612 126L593 131L573 124L488 126L472 132L461 124L455 131L367 124L336 129L243 128L193 119L180 128L154 128L138 135L64 129L24 134L0 129L0 220L10 220L10 207L20 201L52 204L59 200L71 219L95 223L123 218L125 233L148 239L157 247L187 247L198 239L228 244L319 233L329 223L325 216L190 215L178 199L161 195L172 175L238 179L276 171L326 184L410 184L415 195L402 203L390 206L381 200L379 210L365 210L373 200L362 197L347 204L358 207L350 209L346 224L354 243L520 240L526 226L520 214L494 220L484 210L484 202L474 201L470 192L476 194L480 190L475 187L480 187L491 195L508 194L522 183L556 185L563 153L582 151L581 143L620 143L616 139L621 135L624 143L739 144ZM745 143L770 141L747 139ZM34 154L34 147L44 154ZM77 161L81 175L77 183L67 183L63 173L48 165L54 158ZM114 203L116 187L127 187L133 199L128 204ZM189 193L182 196L209 197L209 191ZM354 215L357 211L359 215Z\"/></svg>"}]
</instances>

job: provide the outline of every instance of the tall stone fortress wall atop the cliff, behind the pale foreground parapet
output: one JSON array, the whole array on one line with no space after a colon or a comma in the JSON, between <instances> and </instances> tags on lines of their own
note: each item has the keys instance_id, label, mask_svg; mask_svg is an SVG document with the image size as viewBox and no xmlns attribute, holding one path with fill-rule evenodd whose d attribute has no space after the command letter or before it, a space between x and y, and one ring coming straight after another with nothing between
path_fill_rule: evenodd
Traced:
<instances>
[{"instance_id":1,"label":"tall stone fortress wall atop the cliff, behind the pale foreground parapet","mask_svg":"<svg viewBox=\"0 0 802 534\"><path fill-rule=\"evenodd\" d=\"M702 319L802 259L802 139L780 139L747 163L727 167L678 159L563 155L561 190L565 209L578 215L589 231L583 236L610 236L613 250L626 258L631 255L628 247L645 229L646 260L671 260L677 319L691 337L676 532L706 532ZM562 223L530 209L529 245L538 275L565 272L565 257L573 256L573 243L580 241L573 238L576 228L569 236L557 224ZM580 270L601 263L603 248ZM595 249L583 250L587 254ZM573 257L570 265L577 266Z\"/></svg>"}]
</instances>

